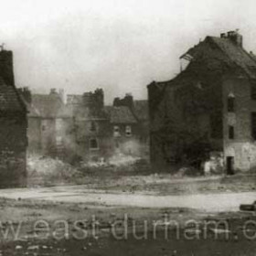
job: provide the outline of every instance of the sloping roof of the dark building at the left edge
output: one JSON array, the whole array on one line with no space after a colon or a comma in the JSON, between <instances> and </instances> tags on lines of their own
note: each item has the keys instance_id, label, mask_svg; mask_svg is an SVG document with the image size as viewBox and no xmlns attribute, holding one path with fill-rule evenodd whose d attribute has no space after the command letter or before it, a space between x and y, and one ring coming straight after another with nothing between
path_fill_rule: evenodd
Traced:
<instances>
[{"instance_id":1,"label":"sloping roof of the dark building at the left edge","mask_svg":"<svg viewBox=\"0 0 256 256\"><path fill-rule=\"evenodd\" d=\"M21 100L15 86L6 85L0 78L0 111L26 111L26 105Z\"/></svg>"}]
</instances>

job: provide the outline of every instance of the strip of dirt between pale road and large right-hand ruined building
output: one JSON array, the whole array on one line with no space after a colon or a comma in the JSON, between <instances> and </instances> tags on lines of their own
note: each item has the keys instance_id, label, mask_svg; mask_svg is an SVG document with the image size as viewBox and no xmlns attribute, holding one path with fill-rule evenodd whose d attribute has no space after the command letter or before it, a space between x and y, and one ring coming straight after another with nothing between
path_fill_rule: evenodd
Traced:
<instances>
[{"instance_id":1,"label":"strip of dirt between pale road and large right-hand ruined building","mask_svg":"<svg viewBox=\"0 0 256 256\"><path fill-rule=\"evenodd\" d=\"M156 193L158 195L184 195L256 191L256 175L176 177L169 174L122 175L116 173L90 174L80 180L87 188L123 192Z\"/></svg>"}]
</instances>

